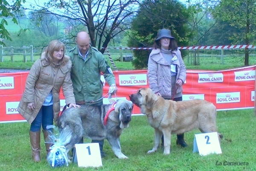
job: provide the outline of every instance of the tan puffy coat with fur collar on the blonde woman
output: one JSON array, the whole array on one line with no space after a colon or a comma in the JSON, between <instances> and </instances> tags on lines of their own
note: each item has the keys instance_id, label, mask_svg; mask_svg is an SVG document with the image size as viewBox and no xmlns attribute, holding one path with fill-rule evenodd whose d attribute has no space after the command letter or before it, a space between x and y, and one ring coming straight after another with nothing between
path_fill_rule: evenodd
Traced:
<instances>
[{"instance_id":1,"label":"tan puffy coat with fur collar on the blonde woman","mask_svg":"<svg viewBox=\"0 0 256 171\"><path fill-rule=\"evenodd\" d=\"M72 81L70 78L71 66L72 63L70 61L70 57L66 55L63 57L61 64L49 64L46 61L45 52L42 53L40 59L35 61L29 71L29 75L26 79L25 90L18 106L19 113L30 124L34 121L51 90L55 122L58 119L61 108L59 98L61 87L65 96L66 104L76 104ZM27 107L30 102L35 103L34 110Z\"/></svg>"}]
</instances>

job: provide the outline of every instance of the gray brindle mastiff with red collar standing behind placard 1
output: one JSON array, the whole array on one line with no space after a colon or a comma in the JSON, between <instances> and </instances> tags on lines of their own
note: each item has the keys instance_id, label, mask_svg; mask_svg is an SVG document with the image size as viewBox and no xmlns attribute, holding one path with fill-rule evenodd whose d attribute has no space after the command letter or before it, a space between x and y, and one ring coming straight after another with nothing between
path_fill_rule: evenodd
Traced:
<instances>
[{"instance_id":1,"label":"gray brindle mastiff with red collar standing behind placard 1","mask_svg":"<svg viewBox=\"0 0 256 171\"><path fill-rule=\"evenodd\" d=\"M111 108L104 125L106 113ZM131 101L118 100L114 108L111 104L103 104L100 107L81 105L81 108L72 107L65 110L58 119L58 128L60 131L72 133L70 142L65 145L67 157L70 149L84 137L98 141L108 139L116 157L127 159L128 157L122 154L119 136L122 130L129 126L132 109Z\"/></svg>"}]
</instances>

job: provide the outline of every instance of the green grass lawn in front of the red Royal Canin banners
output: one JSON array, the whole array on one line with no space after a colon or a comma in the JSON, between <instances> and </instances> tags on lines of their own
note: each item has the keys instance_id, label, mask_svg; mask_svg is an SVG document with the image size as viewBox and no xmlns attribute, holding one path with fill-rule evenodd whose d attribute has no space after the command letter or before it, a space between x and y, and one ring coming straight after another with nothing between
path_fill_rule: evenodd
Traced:
<instances>
[{"instance_id":1,"label":"green grass lawn in front of the red Royal Canin banners","mask_svg":"<svg viewBox=\"0 0 256 171\"><path fill-rule=\"evenodd\" d=\"M158 149L154 154L146 154L153 147L154 130L148 125L146 116L133 116L129 128L120 136L122 152L129 159L118 159L105 140L106 157L102 168L79 168L76 164L55 168L55 171L255 171L256 148L254 111L219 111L217 116L218 132L224 135L221 140L222 154L200 156L193 153L193 130L185 133L186 148L176 145L176 135L172 135L171 154L163 155ZM49 171L46 151L41 133L40 163L32 162L29 142L29 124L26 122L0 124L0 171ZM249 165L215 165L216 162L248 162Z\"/></svg>"}]
</instances>

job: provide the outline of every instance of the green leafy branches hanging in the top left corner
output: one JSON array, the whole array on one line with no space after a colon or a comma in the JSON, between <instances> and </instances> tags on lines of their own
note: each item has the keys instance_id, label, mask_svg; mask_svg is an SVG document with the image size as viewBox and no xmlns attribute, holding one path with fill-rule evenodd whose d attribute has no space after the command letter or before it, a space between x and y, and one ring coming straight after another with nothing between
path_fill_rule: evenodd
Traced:
<instances>
[{"instance_id":1,"label":"green leafy branches hanging in the top left corner","mask_svg":"<svg viewBox=\"0 0 256 171\"><path fill-rule=\"evenodd\" d=\"M12 21L18 24L14 13L18 12L21 3L25 3L25 0L15 0L13 4L9 4L7 0L0 0L0 44L4 45L3 39L8 39L12 41L8 30L6 30L5 25L8 25L4 17L12 17Z\"/></svg>"}]
</instances>

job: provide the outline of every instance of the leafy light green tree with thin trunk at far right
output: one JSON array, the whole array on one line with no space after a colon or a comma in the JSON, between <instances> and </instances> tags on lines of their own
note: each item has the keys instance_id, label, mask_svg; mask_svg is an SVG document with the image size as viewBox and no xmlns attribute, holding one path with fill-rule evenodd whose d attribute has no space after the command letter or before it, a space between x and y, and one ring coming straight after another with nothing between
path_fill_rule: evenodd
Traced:
<instances>
[{"instance_id":1,"label":"leafy light green tree with thin trunk at far right","mask_svg":"<svg viewBox=\"0 0 256 171\"><path fill-rule=\"evenodd\" d=\"M233 34L230 39L233 43L253 43L256 35L256 0L221 0L215 7L216 18L230 23L230 26L244 30ZM245 49L244 65L249 65L249 51Z\"/></svg>"}]
</instances>

